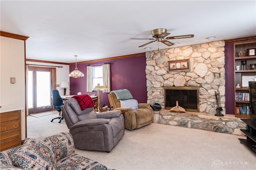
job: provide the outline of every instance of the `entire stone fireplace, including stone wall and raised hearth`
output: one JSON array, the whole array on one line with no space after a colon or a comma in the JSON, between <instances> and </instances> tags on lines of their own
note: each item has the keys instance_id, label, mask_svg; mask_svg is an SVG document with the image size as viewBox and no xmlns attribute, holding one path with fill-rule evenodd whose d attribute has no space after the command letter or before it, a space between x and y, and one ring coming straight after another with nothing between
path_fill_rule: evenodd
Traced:
<instances>
[{"instance_id":1,"label":"entire stone fireplace, including stone wall and raised hearth","mask_svg":"<svg viewBox=\"0 0 256 170\"><path fill-rule=\"evenodd\" d=\"M162 106L160 111L154 111L154 123L244 135L240 129L246 128L246 124L234 115L226 115L224 45L224 41L214 41L146 52L147 103ZM168 71L168 61L183 59L189 59L190 70ZM198 112L188 109L185 113L170 111L165 97L166 89L184 88L199 89ZM215 91L220 91L223 117L214 115L217 108ZM186 93L170 95L184 95L183 100L191 99ZM182 102L179 102L179 106L182 107Z\"/></svg>"}]
</instances>

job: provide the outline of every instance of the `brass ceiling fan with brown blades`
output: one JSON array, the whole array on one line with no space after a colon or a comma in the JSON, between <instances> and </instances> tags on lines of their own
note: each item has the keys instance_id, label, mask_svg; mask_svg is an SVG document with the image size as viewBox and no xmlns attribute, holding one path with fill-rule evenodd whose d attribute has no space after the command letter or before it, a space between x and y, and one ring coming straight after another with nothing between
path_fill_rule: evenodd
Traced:
<instances>
[{"instance_id":1,"label":"brass ceiling fan with brown blades","mask_svg":"<svg viewBox=\"0 0 256 170\"><path fill-rule=\"evenodd\" d=\"M152 37L154 38L130 38L130 39L150 39L150 40L154 40L154 41L150 41L149 43L140 45L139 47L144 47L145 45L148 45L150 43L153 43L155 41L164 43L165 45L171 46L174 45L174 43L167 41L167 39L180 39L180 38L192 38L194 37L193 34L189 34L189 35L179 35L179 36L173 36L173 37L166 37L167 35L169 35L170 33L167 32L167 29L165 28L158 28L158 29L154 29L151 31L152 33ZM166 37L166 38L164 38Z\"/></svg>"}]
</instances>

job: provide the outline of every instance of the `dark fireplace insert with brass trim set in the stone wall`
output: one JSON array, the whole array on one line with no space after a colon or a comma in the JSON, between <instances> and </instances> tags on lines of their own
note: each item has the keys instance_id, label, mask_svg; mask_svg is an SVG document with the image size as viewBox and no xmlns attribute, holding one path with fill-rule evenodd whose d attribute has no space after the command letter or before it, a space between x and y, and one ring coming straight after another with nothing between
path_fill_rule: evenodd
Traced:
<instances>
[{"instance_id":1,"label":"dark fireplace insert with brass trim set in the stone wall","mask_svg":"<svg viewBox=\"0 0 256 170\"><path fill-rule=\"evenodd\" d=\"M179 106L186 111L199 112L199 87L166 87L164 88L165 109Z\"/></svg>"}]
</instances>

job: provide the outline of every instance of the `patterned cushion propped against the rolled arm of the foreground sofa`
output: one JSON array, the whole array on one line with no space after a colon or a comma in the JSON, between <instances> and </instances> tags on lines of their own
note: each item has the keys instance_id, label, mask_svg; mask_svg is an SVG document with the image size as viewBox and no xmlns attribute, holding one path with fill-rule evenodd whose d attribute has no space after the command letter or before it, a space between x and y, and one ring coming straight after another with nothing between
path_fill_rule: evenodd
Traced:
<instances>
[{"instance_id":1,"label":"patterned cushion propped against the rolled arm of the foreground sofa","mask_svg":"<svg viewBox=\"0 0 256 170\"><path fill-rule=\"evenodd\" d=\"M55 170L57 168L55 154L42 141L27 139L12 156L15 166L22 169Z\"/></svg>"}]
</instances>

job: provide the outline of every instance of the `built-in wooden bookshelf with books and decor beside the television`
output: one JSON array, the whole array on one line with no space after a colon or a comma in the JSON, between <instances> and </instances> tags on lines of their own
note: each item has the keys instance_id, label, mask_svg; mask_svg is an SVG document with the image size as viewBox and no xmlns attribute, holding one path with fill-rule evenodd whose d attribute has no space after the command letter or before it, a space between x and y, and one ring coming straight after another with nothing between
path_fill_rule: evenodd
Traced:
<instances>
[{"instance_id":1,"label":"built-in wooden bookshelf with books and decor beside the television","mask_svg":"<svg viewBox=\"0 0 256 170\"><path fill-rule=\"evenodd\" d=\"M234 43L235 115L251 118L248 81L256 76L256 40ZM240 86L240 87L239 87Z\"/></svg>"}]
</instances>

